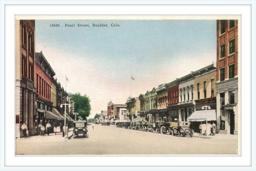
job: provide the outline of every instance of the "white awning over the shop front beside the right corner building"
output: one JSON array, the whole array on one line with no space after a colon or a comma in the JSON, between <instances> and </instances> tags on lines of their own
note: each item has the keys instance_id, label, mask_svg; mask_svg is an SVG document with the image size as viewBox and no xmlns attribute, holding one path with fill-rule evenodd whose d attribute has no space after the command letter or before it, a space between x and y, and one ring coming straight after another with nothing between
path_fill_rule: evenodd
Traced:
<instances>
[{"instance_id":1,"label":"white awning over the shop front beside the right corner building","mask_svg":"<svg viewBox=\"0 0 256 171\"><path fill-rule=\"evenodd\" d=\"M191 114L187 121L205 121L207 114L208 121L216 121L216 110L196 110L193 114Z\"/></svg>"}]
</instances>

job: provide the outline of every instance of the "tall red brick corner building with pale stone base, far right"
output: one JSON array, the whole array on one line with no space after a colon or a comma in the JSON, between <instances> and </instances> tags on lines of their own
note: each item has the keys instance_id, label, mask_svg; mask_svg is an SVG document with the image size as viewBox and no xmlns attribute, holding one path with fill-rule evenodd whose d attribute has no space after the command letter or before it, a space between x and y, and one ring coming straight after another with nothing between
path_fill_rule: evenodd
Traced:
<instances>
[{"instance_id":1,"label":"tall red brick corner building with pale stone base, far right","mask_svg":"<svg viewBox=\"0 0 256 171\"><path fill-rule=\"evenodd\" d=\"M217 20L217 132L238 129L238 20Z\"/></svg>"}]
</instances>

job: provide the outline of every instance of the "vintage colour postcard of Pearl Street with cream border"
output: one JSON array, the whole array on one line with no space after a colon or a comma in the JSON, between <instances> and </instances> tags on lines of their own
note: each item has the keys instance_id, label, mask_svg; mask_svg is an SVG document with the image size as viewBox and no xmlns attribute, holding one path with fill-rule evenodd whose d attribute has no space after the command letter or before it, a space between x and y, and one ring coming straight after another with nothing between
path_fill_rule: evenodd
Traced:
<instances>
[{"instance_id":1,"label":"vintage colour postcard of Pearl Street with cream border","mask_svg":"<svg viewBox=\"0 0 256 171\"><path fill-rule=\"evenodd\" d=\"M16 15L15 62L16 156L241 156L240 15Z\"/></svg>"}]
</instances>

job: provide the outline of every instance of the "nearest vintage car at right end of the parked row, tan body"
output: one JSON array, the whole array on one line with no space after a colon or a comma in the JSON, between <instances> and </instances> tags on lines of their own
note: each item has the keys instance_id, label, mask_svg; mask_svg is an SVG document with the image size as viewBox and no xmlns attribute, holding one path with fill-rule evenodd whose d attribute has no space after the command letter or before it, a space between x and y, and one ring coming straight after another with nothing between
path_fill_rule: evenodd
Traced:
<instances>
[{"instance_id":1,"label":"nearest vintage car at right end of the parked row, tan body","mask_svg":"<svg viewBox=\"0 0 256 171\"><path fill-rule=\"evenodd\" d=\"M189 128L190 122L188 121L179 121L178 127L173 127L173 136L178 135L186 136L190 135L190 137L193 137L194 130Z\"/></svg>"}]
</instances>

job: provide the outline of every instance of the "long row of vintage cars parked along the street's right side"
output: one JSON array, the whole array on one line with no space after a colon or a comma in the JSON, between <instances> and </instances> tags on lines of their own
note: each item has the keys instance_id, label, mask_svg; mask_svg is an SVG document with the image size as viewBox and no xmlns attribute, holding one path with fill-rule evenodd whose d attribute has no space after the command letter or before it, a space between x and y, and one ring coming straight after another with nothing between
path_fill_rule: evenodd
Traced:
<instances>
[{"instance_id":1,"label":"long row of vintage cars parked along the street's right side","mask_svg":"<svg viewBox=\"0 0 256 171\"><path fill-rule=\"evenodd\" d=\"M165 121L133 121L133 122L117 122L117 127L133 129L139 131L157 132L168 135L193 137L194 130L189 128L190 122L165 122Z\"/></svg>"}]
</instances>

